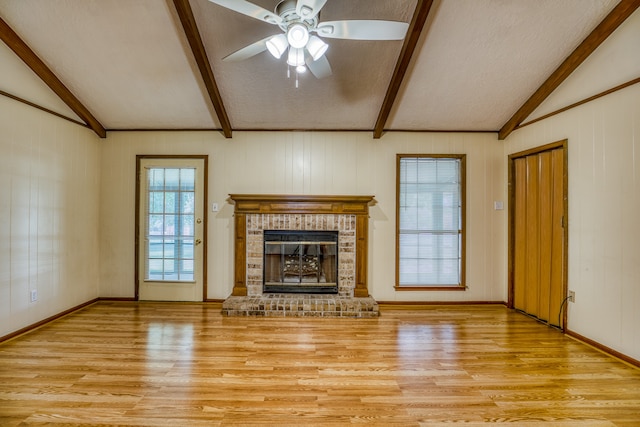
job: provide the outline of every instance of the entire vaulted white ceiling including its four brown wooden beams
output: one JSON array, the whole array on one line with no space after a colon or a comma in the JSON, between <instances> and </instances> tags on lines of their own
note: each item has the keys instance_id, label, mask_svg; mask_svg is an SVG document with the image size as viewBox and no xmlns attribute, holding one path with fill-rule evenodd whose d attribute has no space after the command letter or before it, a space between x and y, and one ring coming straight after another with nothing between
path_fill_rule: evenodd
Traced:
<instances>
[{"instance_id":1,"label":"entire vaulted white ceiling including its four brown wooden beams","mask_svg":"<svg viewBox=\"0 0 640 427\"><path fill-rule=\"evenodd\" d=\"M274 10L278 0L252 3ZM505 138L639 0L328 0L320 21L409 23L404 40L325 39L333 73L287 76L280 32L208 0L0 0L0 37L58 95L0 94L105 136L123 129L487 131ZM6 58L5 55L0 57ZM26 65L25 65L26 64ZM2 69L2 68L0 68ZM29 71L31 72L31 71Z\"/></svg>"}]
</instances>

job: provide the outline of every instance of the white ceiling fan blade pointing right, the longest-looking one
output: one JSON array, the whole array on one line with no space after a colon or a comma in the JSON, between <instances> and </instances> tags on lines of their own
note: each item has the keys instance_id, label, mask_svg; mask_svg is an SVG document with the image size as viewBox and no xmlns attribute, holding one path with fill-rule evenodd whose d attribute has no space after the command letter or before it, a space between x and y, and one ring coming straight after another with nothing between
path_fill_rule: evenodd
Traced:
<instances>
[{"instance_id":1,"label":"white ceiling fan blade pointing right, the longest-looking one","mask_svg":"<svg viewBox=\"0 0 640 427\"><path fill-rule=\"evenodd\" d=\"M397 21L327 21L317 26L319 36L350 40L402 40L409 24Z\"/></svg>"}]
</instances>

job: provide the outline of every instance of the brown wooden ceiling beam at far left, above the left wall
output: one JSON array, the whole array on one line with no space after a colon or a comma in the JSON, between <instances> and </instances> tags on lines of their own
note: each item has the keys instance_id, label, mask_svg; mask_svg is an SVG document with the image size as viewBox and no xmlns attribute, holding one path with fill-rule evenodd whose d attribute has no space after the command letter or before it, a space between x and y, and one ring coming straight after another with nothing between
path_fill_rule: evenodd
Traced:
<instances>
[{"instance_id":1,"label":"brown wooden ceiling beam at far left, above the left wall","mask_svg":"<svg viewBox=\"0 0 640 427\"><path fill-rule=\"evenodd\" d=\"M100 138L106 138L107 131L104 126L2 18L0 38L89 128Z\"/></svg>"}]
</instances>

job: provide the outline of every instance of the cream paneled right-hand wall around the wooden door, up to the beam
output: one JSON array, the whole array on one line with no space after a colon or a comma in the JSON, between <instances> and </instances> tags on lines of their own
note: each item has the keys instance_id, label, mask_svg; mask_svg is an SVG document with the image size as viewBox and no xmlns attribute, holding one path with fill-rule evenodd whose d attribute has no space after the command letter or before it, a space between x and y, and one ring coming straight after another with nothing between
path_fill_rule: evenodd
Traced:
<instances>
[{"instance_id":1,"label":"cream paneled right-hand wall around the wooden door, up to the beam","mask_svg":"<svg viewBox=\"0 0 640 427\"><path fill-rule=\"evenodd\" d=\"M640 11L532 118L640 77ZM640 360L640 84L512 133L506 154L568 139L568 328Z\"/></svg>"}]
</instances>

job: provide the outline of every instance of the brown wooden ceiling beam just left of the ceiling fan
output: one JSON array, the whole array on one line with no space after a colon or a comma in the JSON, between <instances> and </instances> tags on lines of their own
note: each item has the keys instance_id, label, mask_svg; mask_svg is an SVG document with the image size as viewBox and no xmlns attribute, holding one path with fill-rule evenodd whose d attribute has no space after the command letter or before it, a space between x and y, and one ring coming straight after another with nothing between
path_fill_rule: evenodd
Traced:
<instances>
[{"instance_id":1,"label":"brown wooden ceiling beam just left of the ceiling fan","mask_svg":"<svg viewBox=\"0 0 640 427\"><path fill-rule=\"evenodd\" d=\"M200 75L202 76L204 85L207 88L209 99L213 104L213 108L218 116L218 121L222 126L222 133L226 138L231 138L231 122L227 116L227 110L224 108L224 103L222 102L222 97L220 96L216 79L213 76L211 63L209 62L209 57L207 56L207 52L204 48L202 37L200 37L200 31L198 31L198 25L196 24L195 17L193 16L193 10L191 9L189 0L173 0L173 4L176 7L180 23L182 24L184 33L189 41L189 46L191 46L191 51L193 52L196 64L200 70Z\"/></svg>"}]
</instances>

